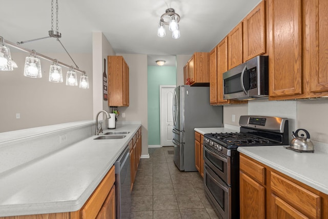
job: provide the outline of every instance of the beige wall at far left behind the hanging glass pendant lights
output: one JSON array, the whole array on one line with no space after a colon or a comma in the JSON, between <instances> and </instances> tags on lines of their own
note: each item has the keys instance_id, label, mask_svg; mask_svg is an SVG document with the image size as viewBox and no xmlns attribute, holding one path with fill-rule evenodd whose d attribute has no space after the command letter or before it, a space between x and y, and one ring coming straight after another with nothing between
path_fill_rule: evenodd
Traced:
<instances>
[{"instance_id":1,"label":"beige wall at far left behind the hanging glass pendant lights","mask_svg":"<svg viewBox=\"0 0 328 219\"><path fill-rule=\"evenodd\" d=\"M49 82L52 62L40 58L42 78L23 76L25 57L28 53L11 49L18 68L0 72L0 132L31 127L92 119L92 55L70 54L81 70L89 76L90 89L66 85L66 67L63 83ZM66 53L44 54L70 64ZM72 63L73 64L73 63ZM78 81L81 73L77 73ZM16 113L20 119L16 119Z\"/></svg>"}]
</instances>

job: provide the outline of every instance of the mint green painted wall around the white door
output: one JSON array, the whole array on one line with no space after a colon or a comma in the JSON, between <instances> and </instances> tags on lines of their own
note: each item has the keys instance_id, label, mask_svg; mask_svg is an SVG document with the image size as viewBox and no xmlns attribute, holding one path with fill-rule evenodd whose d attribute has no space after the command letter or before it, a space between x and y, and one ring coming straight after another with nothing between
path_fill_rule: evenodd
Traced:
<instances>
[{"instance_id":1,"label":"mint green painted wall around the white door","mask_svg":"<svg viewBox=\"0 0 328 219\"><path fill-rule=\"evenodd\" d=\"M148 145L160 145L159 85L176 85L176 68L148 66Z\"/></svg>"}]
</instances>

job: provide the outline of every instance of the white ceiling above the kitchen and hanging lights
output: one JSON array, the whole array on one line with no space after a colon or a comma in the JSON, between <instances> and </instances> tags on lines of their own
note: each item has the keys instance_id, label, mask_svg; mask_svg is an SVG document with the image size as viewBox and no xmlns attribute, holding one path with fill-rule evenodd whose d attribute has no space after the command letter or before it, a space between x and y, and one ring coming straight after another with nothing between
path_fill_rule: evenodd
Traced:
<instances>
[{"instance_id":1,"label":"white ceiling above the kitchen and hanging lights","mask_svg":"<svg viewBox=\"0 0 328 219\"><path fill-rule=\"evenodd\" d=\"M58 0L58 31L62 34L60 41L70 54L91 53L92 32L103 32L116 53L147 54L149 65L165 59L166 65L175 66L175 55L211 51L259 2ZM1 5L0 36L12 42L48 36L51 0L4 1ZM157 36L160 16L168 8L175 9L181 17L179 39L171 37L168 27L166 37ZM22 46L39 53L65 52L55 38Z\"/></svg>"}]
</instances>

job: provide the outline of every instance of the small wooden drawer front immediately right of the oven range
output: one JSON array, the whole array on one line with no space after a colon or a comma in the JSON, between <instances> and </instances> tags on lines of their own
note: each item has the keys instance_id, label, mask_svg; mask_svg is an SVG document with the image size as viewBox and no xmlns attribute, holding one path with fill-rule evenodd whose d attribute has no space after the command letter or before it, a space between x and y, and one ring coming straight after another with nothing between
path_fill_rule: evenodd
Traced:
<instances>
[{"instance_id":1,"label":"small wooden drawer front immediately right of the oven range","mask_svg":"<svg viewBox=\"0 0 328 219\"><path fill-rule=\"evenodd\" d=\"M253 179L265 185L265 167L240 156L240 170L247 173Z\"/></svg>"}]
</instances>

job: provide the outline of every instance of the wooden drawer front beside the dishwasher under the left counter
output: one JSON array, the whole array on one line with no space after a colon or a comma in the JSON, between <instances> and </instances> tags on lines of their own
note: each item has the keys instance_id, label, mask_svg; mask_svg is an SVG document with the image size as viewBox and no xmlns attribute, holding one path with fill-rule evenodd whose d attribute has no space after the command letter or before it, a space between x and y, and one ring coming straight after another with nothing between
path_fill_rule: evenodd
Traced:
<instances>
[{"instance_id":1,"label":"wooden drawer front beside the dishwasher under the left counter","mask_svg":"<svg viewBox=\"0 0 328 219\"><path fill-rule=\"evenodd\" d=\"M81 209L81 218L95 218L97 216L114 183L115 167L113 166Z\"/></svg>"}]
</instances>

